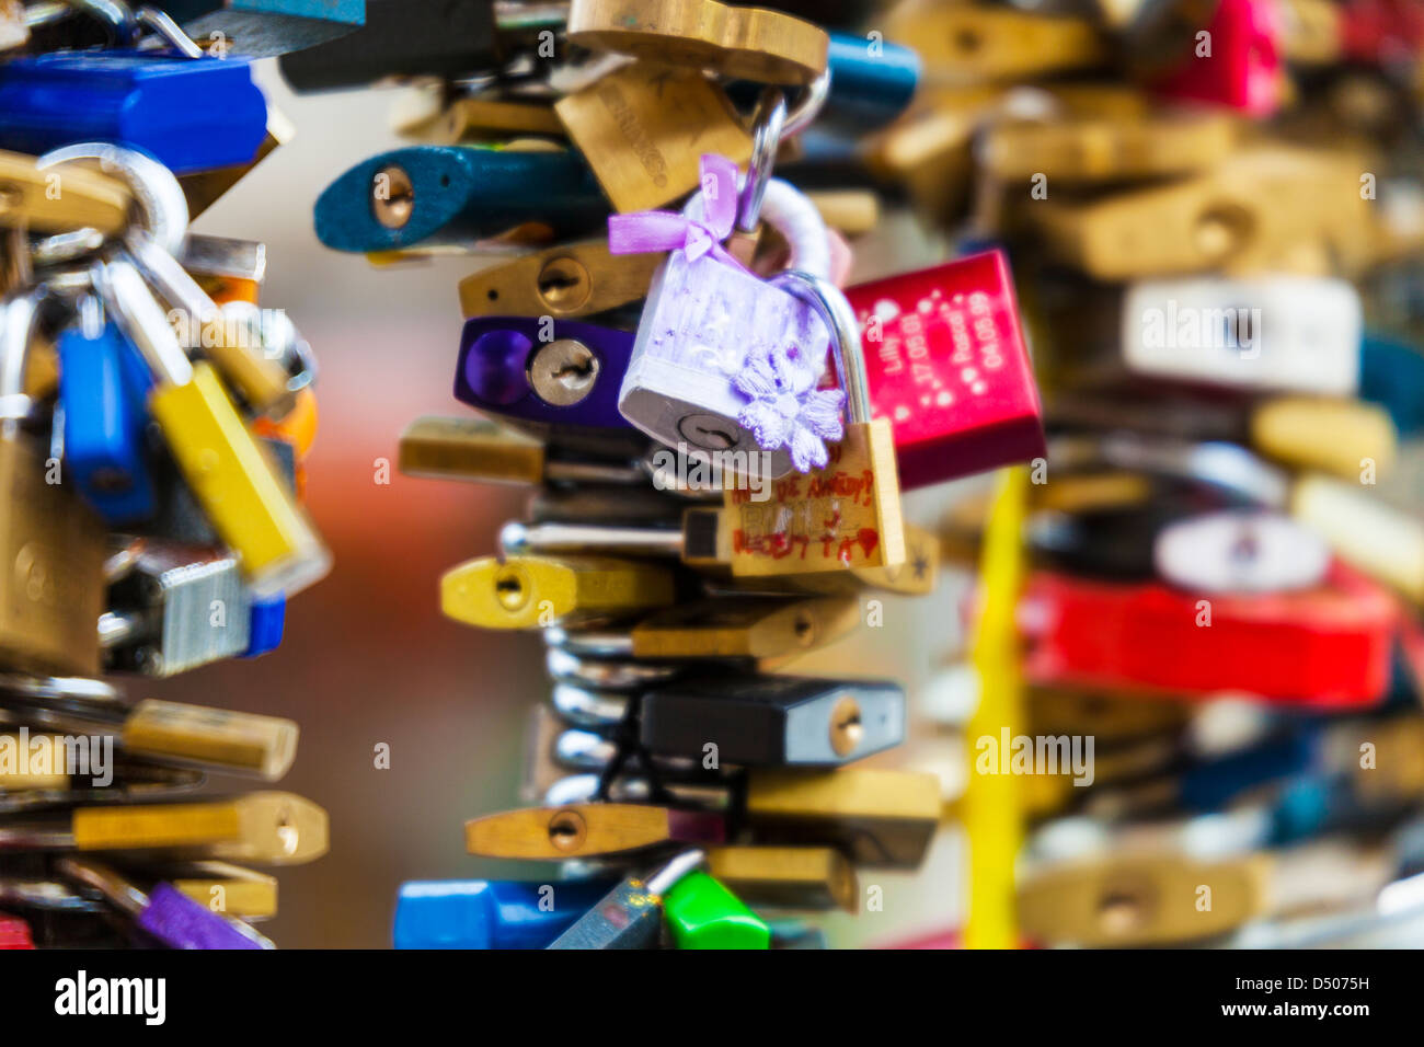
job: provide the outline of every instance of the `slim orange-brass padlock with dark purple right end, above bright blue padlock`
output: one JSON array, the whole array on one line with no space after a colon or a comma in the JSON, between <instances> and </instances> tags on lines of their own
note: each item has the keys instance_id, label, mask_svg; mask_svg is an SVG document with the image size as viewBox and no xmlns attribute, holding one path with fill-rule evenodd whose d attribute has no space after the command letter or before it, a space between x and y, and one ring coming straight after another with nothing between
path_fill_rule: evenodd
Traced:
<instances>
[{"instance_id":1,"label":"slim orange-brass padlock with dark purple right end, above bright blue padlock","mask_svg":"<svg viewBox=\"0 0 1424 1047\"><path fill-rule=\"evenodd\" d=\"M721 815L645 803L528 808L464 823L466 850L487 858L594 858L674 842L721 843L725 836Z\"/></svg>"}]
</instances>

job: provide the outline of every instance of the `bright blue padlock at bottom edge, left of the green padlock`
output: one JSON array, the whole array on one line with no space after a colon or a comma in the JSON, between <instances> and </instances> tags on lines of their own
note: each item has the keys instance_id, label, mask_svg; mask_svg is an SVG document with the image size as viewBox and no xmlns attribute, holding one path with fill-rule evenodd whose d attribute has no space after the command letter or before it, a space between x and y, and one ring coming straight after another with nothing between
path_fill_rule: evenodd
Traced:
<instances>
[{"instance_id":1,"label":"bright blue padlock at bottom edge, left of the green padlock","mask_svg":"<svg viewBox=\"0 0 1424 1047\"><path fill-rule=\"evenodd\" d=\"M396 899L396 949L545 949L618 880L413 880Z\"/></svg>"}]
</instances>

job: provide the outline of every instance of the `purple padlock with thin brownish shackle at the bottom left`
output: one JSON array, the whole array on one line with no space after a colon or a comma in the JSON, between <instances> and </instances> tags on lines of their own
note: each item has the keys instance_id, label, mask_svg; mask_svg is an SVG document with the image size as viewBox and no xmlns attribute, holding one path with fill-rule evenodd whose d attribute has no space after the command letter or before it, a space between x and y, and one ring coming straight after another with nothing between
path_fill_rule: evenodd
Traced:
<instances>
[{"instance_id":1,"label":"purple padlock with thin brownish shackle at the bottom left","mask_svg":"<svg viewBox=\"0 0 1424 1047\"><path fill-rule=\"evenodd\" d=\"M88 859L61 858L56 869L66 879L97 890L130 916L138 930L169 949L275 947L241 920L214 912L169 883L158 883L145 893L114 869Z\"/></svg>"}]
</instances>

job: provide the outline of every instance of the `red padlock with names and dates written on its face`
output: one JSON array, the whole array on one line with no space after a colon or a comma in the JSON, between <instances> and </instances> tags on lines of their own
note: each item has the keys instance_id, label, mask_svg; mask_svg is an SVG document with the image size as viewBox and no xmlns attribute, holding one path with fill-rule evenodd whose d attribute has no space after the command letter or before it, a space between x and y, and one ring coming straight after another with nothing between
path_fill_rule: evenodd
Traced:
<instances>
[{"instance_id":1,"label":"red padlock with names and dates written on its face","mask_svg":"<svg viewBox=\"0 0 1424 1047\"><path fill-rule=\"evenodd\" d=\"M1044 409L1002 252L846 291L874 417L890 419L900 489L1047 453Z\"/></svg>"}]
</instances>

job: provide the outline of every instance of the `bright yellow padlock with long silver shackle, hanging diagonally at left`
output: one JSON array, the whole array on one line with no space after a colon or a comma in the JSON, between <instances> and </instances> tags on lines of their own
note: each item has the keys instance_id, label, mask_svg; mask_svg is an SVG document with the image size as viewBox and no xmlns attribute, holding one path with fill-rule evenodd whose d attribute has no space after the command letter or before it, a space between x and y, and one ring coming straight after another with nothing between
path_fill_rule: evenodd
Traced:
<instances>
[{"instance_id":1,"label":"bright yellow padlock with long silver shackle, hanging diagonally at left","mask_svg":"<svg viewBox=\"0 0 1424 1047\"><path fill-rule=\"evenodd\" d=\"M103 269L103 295L158 385L148 405L184 479L259 597L318 581L330 556L232 406L212 366L191 363L130 262Z\"/></svg>"}]
</instances>

